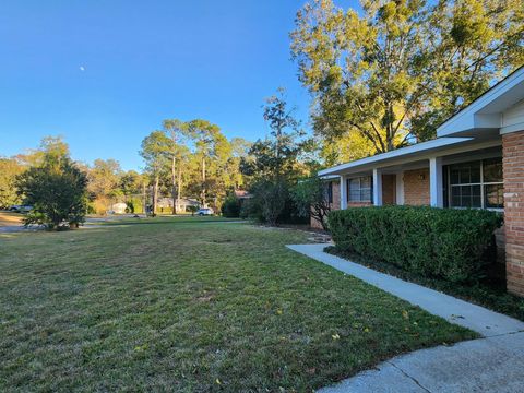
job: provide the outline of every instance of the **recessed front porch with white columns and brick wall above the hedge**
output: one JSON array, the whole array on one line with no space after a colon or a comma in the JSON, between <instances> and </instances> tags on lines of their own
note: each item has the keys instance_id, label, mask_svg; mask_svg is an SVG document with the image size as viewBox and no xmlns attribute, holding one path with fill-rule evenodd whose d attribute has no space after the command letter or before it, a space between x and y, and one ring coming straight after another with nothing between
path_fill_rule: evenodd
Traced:
<instances>
[{"instance_id":1,"label":"recessed front porch with white columns and brick wall above the hedge","mask_svg":"<svg viewBox=\"0 0 524 393\"><path fill-rule=\"evenodd\" d=\"M431 205L502 210L501 140L341 170L340 206ZM429 152L426 152L429 153Z\"/></svg>"}]
</instances>

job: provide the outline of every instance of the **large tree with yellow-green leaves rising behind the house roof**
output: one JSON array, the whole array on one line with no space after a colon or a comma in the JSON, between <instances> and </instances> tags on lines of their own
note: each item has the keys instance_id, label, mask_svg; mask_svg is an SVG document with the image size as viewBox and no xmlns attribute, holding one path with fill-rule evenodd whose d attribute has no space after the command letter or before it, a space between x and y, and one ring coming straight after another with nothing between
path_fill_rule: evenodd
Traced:
<instances>
[{"instance_id":1,"label":"large tree with yellow-green leaves rising behind the house roof","mask_svg":"<svg viewBox=\"0 0 524 393\"><path fill-rule=\"evenodd\" d=\"M442 120L524 62L523 22L522 0L365 0L362 12L309 1L291 51L313 95L315 132L330 145L359 134L371 154L434 138Z\"/></svg>"}]
</instances>

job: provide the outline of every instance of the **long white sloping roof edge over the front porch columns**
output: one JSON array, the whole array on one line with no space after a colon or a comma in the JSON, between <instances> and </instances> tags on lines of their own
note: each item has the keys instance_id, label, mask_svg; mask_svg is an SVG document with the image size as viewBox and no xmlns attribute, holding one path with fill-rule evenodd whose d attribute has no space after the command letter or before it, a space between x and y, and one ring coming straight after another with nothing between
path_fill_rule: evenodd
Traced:
<instances>
[{"instance_id":1,"label":"long white sloping roof edge over the front porch columns","mask_svg":"<svg viewBox=\"0 0 524 393\"><path fill-rule=\"evenodd\" d=\"M341 164L327 169L323 169L319 171L319 176L324 177L329 175L343 175L347 172L371 170L377 167L388 166L397 160L403 160L404 158L407 162L415 160L417 158L422 158L428 154L437 153L446 147L469 142L473 140L473 138L438 138L432 141L417 143L412 146L397 148L392 152L377 154L371 157L366 157L354 160L352 163Z\"/></svg>"}]
</instances>

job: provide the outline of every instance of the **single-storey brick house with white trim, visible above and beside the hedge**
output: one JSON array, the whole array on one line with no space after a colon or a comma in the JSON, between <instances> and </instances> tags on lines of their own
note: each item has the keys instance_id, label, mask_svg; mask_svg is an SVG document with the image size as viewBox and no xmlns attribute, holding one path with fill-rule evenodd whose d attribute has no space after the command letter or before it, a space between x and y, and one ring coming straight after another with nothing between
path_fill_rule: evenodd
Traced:
<instances>
[{"instance_id":1,"label":"single-storey brick house with white trim, visible above and beside the hedge","mask_svg":"<svg viewBox=\"0 0 524 393\"><path fill-rule=\"evenodd\" d=\"M500 211L497 243L505 249L508 290L524 296L524 67L448 119L437 136L320 171L332 209Z\"/></svg>"}]
</instances>

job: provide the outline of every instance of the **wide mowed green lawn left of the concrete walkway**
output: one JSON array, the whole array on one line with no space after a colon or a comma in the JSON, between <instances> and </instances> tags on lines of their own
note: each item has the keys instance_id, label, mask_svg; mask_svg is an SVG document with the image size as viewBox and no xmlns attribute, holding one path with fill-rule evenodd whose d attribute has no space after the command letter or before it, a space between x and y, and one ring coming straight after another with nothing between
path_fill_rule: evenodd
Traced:
<instances>
[{"instance_id":1,"label":"wide mowed green lawn left of the concrete walkway","mask_svg":"<svg viewBox=\"0 0 524 393\"><path fill-rule=\"evenodd\" d=\"M306 241L192 217L0 236L0 391L305 392L476 337Z\"/></svg>"}]
</instances>

